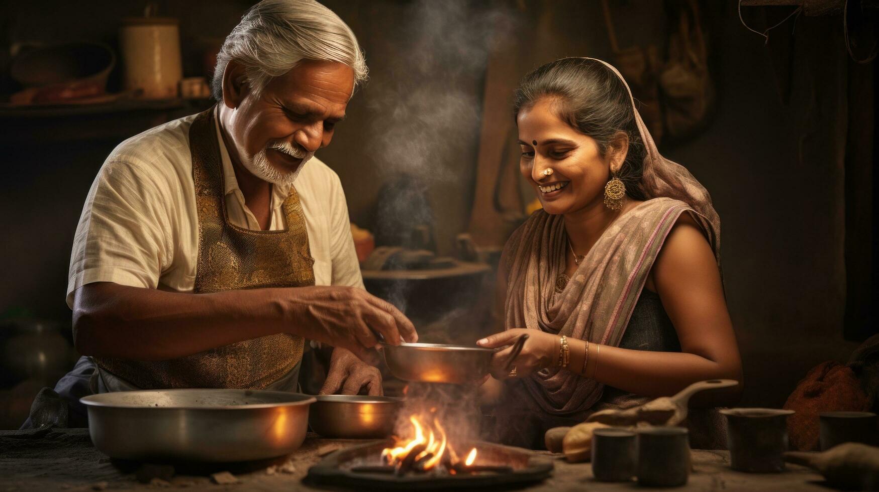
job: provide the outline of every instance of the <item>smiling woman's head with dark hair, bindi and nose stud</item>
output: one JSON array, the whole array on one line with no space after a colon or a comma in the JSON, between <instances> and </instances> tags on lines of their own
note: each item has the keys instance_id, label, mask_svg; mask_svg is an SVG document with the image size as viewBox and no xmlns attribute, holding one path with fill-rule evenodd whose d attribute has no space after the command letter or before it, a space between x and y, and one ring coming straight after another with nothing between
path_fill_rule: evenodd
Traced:
<instances>
[{"instance_id":1,"label":"smiling woman's head with dark hair, bindi and nose stud","mask_svg":"<svg viewBox=\"0 0 879 492\"><path fill-rule=\"evenodd\" d=\"M573 67L578 59L567 60ZM630 199L643 201L644 148L628 90L604 67L581 62L582 76L573 81L563 65L534 70L516 91L522 175L537 187L548 213L561 213L585 197L601 199L599 187L608 174L621 181ZM560 192L574 177L585 188Z\"/></svg>"}]
</instances>

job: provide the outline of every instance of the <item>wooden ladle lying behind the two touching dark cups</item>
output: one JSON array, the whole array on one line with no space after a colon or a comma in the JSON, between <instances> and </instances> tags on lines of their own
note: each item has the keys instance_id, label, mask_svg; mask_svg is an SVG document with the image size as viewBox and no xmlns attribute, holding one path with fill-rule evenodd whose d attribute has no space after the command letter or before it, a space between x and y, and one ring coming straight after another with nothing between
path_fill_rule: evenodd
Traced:
<instances>
[{"instance_id":1,"label":"wooden ladle lying behind the two touching dark cups","mask_svg":"<svg viewBox=\"0 0 879 492\"><path fill-rule=\"evenodd\" d=\"M737 380L707 380L693 383L674 396L662 396L643 405L625 410L607 409L595 412L586 422L599 422L613 426L637 425L677 425L686 419L686 405L690 397L707 389L734 387Z\"/></svg>"}]
</instances>

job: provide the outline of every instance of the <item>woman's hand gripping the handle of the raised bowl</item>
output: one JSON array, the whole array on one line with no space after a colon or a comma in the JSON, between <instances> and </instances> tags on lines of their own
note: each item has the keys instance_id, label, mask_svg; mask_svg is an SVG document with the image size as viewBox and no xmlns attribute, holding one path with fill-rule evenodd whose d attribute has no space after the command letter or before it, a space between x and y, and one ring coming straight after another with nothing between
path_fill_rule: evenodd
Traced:
<instances>
[{"instance_id":1,"label":"woman's hand gripping the handle of the raised bowl","mask_svg":"<svg viewBox=\"0 0 879 492\"><path fill-rule=\"evenodd\" d=\"M522 351L512 361L510 368L505 369L507 362L510 360L512 344L516 343L519 336L526 334L528 339L525 345L522 346ZM498 380L505 380L511 377L525 377L543 368L556 365L559 351L558 339L559 336L557 335L544 333L537 329L514 328L487 336L476 342L476 344L487 349L509 345L503 351L498 351L491 358L491 375ZM511 374L513 368L516 370L515 374Z\"/></svg>"}]
</instances>

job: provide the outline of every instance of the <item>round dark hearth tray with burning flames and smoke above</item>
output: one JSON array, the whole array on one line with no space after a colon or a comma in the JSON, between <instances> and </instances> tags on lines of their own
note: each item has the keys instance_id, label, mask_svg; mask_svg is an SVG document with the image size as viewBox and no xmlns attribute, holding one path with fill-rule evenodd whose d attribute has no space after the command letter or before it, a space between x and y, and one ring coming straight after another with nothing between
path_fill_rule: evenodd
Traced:
<instances>
[{"instance_id":1,"label":"round dark hearth tray with burning flames and smoke above","mask_svg":"<svg viewBox=\"0 0 879 492\"><path fill-rule=\"evenodd\" d=\"M469 488L541 481L551 459L482 441L476 388L410 383L395 437L340 450L308 480L348 488Z\"/></svg>"}]
</instances>

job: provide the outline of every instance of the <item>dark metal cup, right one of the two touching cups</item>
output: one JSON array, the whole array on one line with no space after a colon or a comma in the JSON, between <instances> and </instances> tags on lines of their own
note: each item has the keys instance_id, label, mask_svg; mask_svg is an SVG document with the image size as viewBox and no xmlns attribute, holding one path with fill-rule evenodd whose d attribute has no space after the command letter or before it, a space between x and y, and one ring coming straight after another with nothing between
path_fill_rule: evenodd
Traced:
<instances>
[{"instance_id":1,"label":"dark metal cup, right one of the two touching cups","mask_svg":"<svg viewBox=\"0 0 879 492\"><path fill-rule=\"evenodd\" d=\"M689 432L683 427L638 431L638 485L678 487L690 476Z\"/></svg>"}]
</instances>

